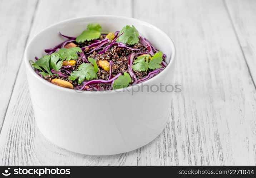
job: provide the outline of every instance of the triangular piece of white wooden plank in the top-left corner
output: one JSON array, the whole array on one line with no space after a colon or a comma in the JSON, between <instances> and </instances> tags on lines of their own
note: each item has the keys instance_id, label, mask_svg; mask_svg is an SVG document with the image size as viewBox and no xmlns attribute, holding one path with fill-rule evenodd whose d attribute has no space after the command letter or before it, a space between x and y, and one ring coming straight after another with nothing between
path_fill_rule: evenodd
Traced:
<instances>
[{"instance_id":1,"label":"triangular piece of white wooden plank in the top-left corner","mask_svg":"<svg viewBox=\"0 0 256 178\"><path fill-rule=\"evenodd\" d=\"M13 91L37 1L0 3L0 132ZM20 8L20 7L24 8Z\"/></svg>"}]
</instances>

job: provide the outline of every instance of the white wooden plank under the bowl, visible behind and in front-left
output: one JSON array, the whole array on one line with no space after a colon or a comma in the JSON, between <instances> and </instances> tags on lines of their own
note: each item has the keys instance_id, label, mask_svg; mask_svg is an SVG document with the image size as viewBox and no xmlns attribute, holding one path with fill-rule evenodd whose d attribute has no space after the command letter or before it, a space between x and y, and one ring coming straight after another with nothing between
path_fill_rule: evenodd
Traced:
<instances>
[{"instance_id":1,"label":"white wooden plank under the bowl, visible behind and in front-left","mask_svg":"<svg viewBox=\"0 0 256 178\"><path fill-rule=\"evenodd\" d=\"M44 0L39 2L30 38L46 26L72 17L131 13L131 1ZM69 152L46 140L35 126L25 78L22 65L0 135L1 165L137 165L136 150L113 156L89 156Z\"/></svg>"}]
</instances>

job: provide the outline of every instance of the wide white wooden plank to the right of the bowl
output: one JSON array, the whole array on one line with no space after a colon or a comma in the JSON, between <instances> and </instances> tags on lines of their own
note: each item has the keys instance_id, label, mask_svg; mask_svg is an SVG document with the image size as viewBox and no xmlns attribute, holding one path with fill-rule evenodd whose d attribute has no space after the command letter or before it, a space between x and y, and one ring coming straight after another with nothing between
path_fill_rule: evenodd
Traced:
<instances>
[{"instance_id":1,"label":"wide white wooden plank to the right of the bowl","mask_svg":"<svg viewBox=\"0 0 256 178\"><path fill-rule=\"evenodd\" d=\"M256 91L223 1L134 1L134 17L173 39L182 85L170 123L138 150L138 165L255 165Z\"/></svg>"}]
</instances>

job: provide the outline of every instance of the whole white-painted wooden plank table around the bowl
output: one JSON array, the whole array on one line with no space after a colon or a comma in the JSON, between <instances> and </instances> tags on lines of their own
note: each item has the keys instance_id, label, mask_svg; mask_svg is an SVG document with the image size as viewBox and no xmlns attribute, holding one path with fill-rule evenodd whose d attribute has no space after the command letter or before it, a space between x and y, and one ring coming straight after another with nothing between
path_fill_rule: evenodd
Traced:
<instances>
[{"instance_id":1,"label":"whole white-painted wooden plank table around the bowl","mask_svg":"<svg viewBox=\"0 0 256 178\"><path fill-rule=\"evenodd\" d=\"M23 53L43 28L97 14L134 17L177 48L166 129L137 150L88 156L50 143L35 125ZM255 0L1 0L0 165L255 165Z\"/></svg>"}]
</instances>

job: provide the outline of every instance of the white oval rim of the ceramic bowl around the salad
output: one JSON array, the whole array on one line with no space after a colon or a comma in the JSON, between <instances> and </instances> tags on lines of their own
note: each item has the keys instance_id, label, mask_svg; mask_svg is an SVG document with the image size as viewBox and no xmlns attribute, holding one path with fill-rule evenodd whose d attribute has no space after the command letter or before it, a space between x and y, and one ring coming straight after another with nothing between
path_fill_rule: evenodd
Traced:
<instances>
[{"instance_id":1,"label":"white oval rim of the ceramic bowl around the salad","mask_svg":"<svg viewBox=\"0 0 256 178\"><path fill-rule=\"evenodd\" d=\"M33 68L31 67L31 64L28 60L28 48L29 46L34 42L35 38L42 32L48 30L49 28L52 28L54 26L57 26L61 23L66 23L66 22L69 22L69 21L73 21L73 20L79 20L79 19L87 19L87 18L100 18L100 17L108 17L108 18L119 18L119 19L127 19L127 20L131 20L131 21L137 21L139 23L144 23L146 25L149 25L149 26L152 26L153 28L155 28L159 33L162 33L168 40L169 42L171 43L171 47L172 47L172 55L170 57L170 60L169 60L169 63L168 65L166 66L166 68L163 69L162 72L160 72L159 74L157 74L156 76L142 82L143 84L147 84L149 83L150 81L153 81L153 80L157 80L159 78L159 76L161 75L164 75L167 73L167 70L170 70L171 69L171 66L173 65L174 63L174 59L175 59L175 56L176 56L176 49L175 49L175 46L174 46L174 43L172 41L172 39L164 32L162 31L160 28L152 25L151 23L148 23L148 22L145 22L145 21L142 21L142 20L138 20L138 19L135 19L135 18L132 18L132 17L125 17L125 16L118 16L118 15L90 15L90 16L82 16L82 17L75 17L75 18L71 18L71 19L67 19L67 20L63 20L63 21L60 21L60 22L57 22L57 23L53 23L52 25L44 28L43 30L41 30L39 33L37 33L29 42L28 42L28 45L26 45L26 48L25 48L25 52L24 52L24 62L25 62L25 66L26 66L26 71L29 71L31 74L27 73L27 75L34 75L34 77L38 80L40 80L41 82L43 82L44 84L48 85L49 87L51 88L54 88L56 90L62 90L64 92L75 92L76 90L74 89L68 89L68 88L64 88L64 87L59 87L57 85L54 85L48 81L46 81L45 79L41 78L38 74L35 73L35 71L33 70ZM125 89L129 90L129 89L133 89L133 88L138 88L139 85L141 85L142 83L139 83L139 84L135 84L135 85L131 85L129 87L125 87ZM120 93L120 92L117 92L117 91L121 91L123 90L124 88L120 88L120 89L116 89L116 90L108 90L108 91L84 91L84 90L81 90L81 92L77 92L78 94L110 94L110 93Z\"/></svg>"}]
</instances>

